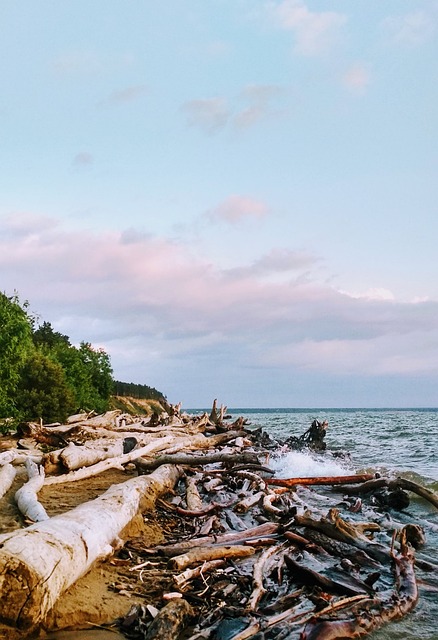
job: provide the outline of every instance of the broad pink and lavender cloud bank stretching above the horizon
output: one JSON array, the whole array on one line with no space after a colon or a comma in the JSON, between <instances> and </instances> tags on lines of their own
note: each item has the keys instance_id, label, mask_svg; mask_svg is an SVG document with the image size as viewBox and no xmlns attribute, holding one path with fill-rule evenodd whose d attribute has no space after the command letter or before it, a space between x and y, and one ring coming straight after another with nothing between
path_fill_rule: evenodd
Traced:
<instances>
[{"instance_id":1,"label":"broad pink and lavender cloud bank stretching above the horizon","mask_svg":"<svg viewBox=\"0 0 438 640\"><path fill-rule=\"evenodd\" d=\"M320 281L316 262L272 250L230 277L184 245L133 229L72 232L50 218L0 218L2 290L17 290L73 341L114 347L126 366L184 370L183 358L230 352L230 366L436 372L437 303L355 298ZM289 272L307 276L265 279Z\"/></svg>"}]
</instances>

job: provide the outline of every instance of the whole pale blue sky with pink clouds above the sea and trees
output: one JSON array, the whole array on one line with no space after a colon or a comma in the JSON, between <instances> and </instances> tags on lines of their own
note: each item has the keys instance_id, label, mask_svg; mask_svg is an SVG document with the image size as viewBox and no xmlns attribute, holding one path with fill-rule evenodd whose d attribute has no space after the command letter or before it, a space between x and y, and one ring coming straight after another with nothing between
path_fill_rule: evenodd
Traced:
<instances>
[{"instance_id":1,"label":"whole pale blue sky with pink clouds above the sea and trees","mask_svg":"<svg viewBox=\"0 0 438 640\"><path fill-rule=\"evenodd\" d=\"M438 1L0 28L1 291L186 408L438 406Z\"/></svg>"}]
</instances>

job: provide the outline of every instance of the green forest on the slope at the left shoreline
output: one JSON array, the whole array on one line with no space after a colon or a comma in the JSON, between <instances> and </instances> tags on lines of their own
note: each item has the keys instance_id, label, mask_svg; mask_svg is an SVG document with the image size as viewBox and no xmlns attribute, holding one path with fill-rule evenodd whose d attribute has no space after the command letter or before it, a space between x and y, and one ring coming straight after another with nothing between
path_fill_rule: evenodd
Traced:
<instances>
[{"instance_id":1,"label":"green forest on the slope at the left shoreline","mask_svg":"<svg viewBox=\"0 0 438 640\"><path fill-rule=\"evenodd\" d=\"M73 345L27 301L0 292L0 418L62 422L80 409L106 411L112 395L165 401L147 385L114 380L104 349Z\"/></svg>"}]
</instances>

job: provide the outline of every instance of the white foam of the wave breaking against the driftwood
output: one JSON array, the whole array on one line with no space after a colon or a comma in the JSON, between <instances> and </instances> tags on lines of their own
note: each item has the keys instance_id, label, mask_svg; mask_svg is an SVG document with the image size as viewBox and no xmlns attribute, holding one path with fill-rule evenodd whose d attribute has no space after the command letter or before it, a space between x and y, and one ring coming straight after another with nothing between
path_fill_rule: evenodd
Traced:
<instances>
[{"instance_id":1,"label":"white foam of the wave breaking against the driftwood","mask_svg":"<svg viewBox=\"0 0 438 640\"><path fill-rule=\"evenodd\" d=\"M333 458L312 456L302 451L289 451L271 458L269 466L275 471L277 478L320 478L354 473Z\"/></svg>"}]
</instances>

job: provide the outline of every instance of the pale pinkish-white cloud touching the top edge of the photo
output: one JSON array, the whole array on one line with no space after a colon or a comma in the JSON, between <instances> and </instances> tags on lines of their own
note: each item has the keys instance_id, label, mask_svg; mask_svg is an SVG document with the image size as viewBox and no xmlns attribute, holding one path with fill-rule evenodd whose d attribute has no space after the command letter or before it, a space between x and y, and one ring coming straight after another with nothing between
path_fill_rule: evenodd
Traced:
<instances>
[{"instance_id":1,"label":"pale pinkish-white cloud touching the top edge of the photo","mask_svg":"<svg viewBox=\"0 0 438 640\"><path fill-rule=\"evenodd\" d=\"M346 24L344 14L335 11L311 11L302 0L269 2L268 12L282 29L295 37L295 51L302 55L319 55L338 41Z\"/></svg>"}]
</instances>

